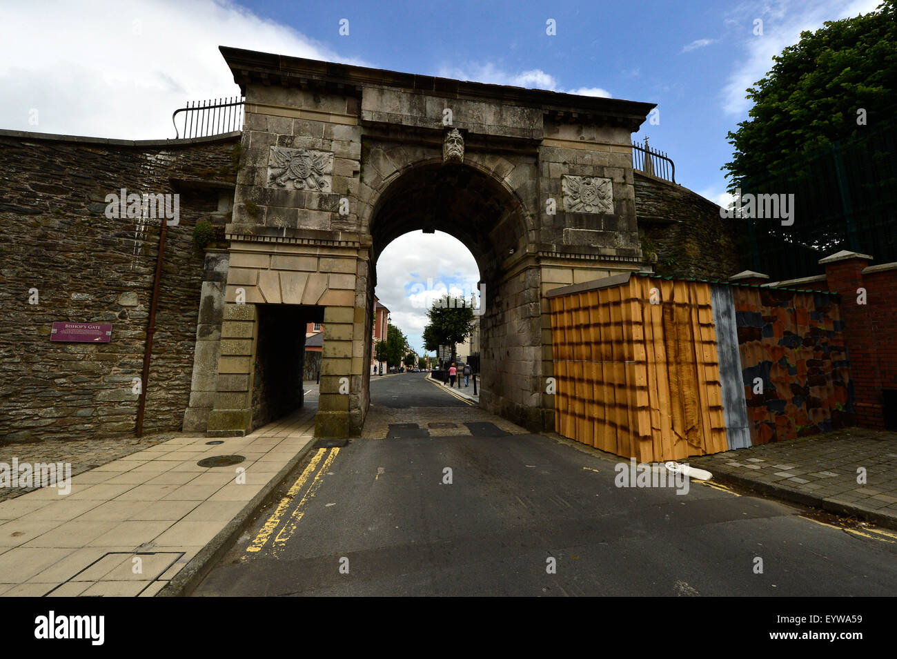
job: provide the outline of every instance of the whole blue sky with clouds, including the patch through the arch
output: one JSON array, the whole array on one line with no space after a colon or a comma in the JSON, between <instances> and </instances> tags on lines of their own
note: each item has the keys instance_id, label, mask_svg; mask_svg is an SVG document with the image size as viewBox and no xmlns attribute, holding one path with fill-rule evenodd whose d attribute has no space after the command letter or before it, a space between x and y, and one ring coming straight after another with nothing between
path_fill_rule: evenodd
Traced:
<instances>
[{"instance_id":1,"label":"whole blue sky with clouds, including the patch through the arch","mask_svg":"<svg viewBox=\"0 0 897 659\"><path fill-rule=\"evenodd\" d=\"M878 0L286 2L120 0L0 5L0 127L126 139L173 137L187 100L239 93L217 47L658 103L636 138L676 181L725 203L726 134L745 88L801 30ZM349 34L341 36L340 21ZM553 19L556 34L546 34ZM757 21L762 34L756 34ZM35 35L39 35L37 38ZM418 255L418 256L414 256ZM422 255L429 255L424 257ZM437 256L433 256L437 255ZM420 346L409 291L476 279L466 248L409 234L379 262L378 294ZM409 273L415 273L412 277Z\"/></svg>"}]
</instances>

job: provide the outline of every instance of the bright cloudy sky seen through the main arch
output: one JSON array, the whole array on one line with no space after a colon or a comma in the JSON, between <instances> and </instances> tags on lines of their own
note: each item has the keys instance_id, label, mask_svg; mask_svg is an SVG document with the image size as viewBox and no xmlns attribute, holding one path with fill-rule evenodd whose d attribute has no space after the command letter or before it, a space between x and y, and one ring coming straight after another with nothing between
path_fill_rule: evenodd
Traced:
<instances>
[{"instance_id":1,"label":"bright cloudy sky seen through the main arch","mask_svg":"<svg viewBox=\"0 0 897 659\"><path fill-rule=\"evenodd\" d=\"M380 254L374 292L389 309L393 325L405 332L420 354L432 300L445 290L469 297L479 272L474 256L457 238L441 231L414 231L393 240Z\"/></svg>"}]
</instances>

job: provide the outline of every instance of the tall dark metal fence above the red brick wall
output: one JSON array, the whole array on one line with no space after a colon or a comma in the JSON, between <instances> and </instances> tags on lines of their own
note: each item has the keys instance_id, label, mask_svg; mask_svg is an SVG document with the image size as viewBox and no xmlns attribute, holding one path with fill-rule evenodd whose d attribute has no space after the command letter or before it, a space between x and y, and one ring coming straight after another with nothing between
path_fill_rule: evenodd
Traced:
<instances>
[{"instance_id":1,"label":"tall dark metal fence above the red brick wall","mask_svg":"<svg viewBox=\"0 0 897 659\"><path fill-rule=\"evenodd\" d=\"M824 273L819 259L840 250L897 261L897 121L869 126L791 163L778 176L745 182L741 194L794 195L790 226L748 223L751 269L773 280ZM738 221L732 220L732 221Z\"/></svg>"}]
</instances>

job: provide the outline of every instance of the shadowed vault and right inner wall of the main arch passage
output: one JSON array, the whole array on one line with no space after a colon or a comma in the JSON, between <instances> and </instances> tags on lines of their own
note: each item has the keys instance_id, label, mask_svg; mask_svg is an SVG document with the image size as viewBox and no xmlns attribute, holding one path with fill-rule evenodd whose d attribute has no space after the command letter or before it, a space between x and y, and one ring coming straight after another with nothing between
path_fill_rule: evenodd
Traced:
<instances>
[{"instance_id":1,"label":"shadowed vault and right inner wall of the main arch passage","mask_svg":"<svg viewBox=\"0 0 897 659\"><path fill-rule=\"evenodd\" d=\"M467 160L472 160L469 152ZM534 425L527 410L540 407L541 320L539 284L515 271L518 250L533 231L524 204L489 169L472 164L423 160L384 182L371 212L372 260L395 238L414 230L444 231L460 240L480 271L480 404L495 413ZM515 258L518 256L518 258ZM374 269L376 273L376 267ZM377 285L370 278L369 306ZM525 317L524 309L530 315ZM509 326L509 311L521 318ZM524 319L525 318L525 319ZM510 333L509 333L510 330ZM370 357L370 356L369 356Z\"/></svg>"}]
</instances>

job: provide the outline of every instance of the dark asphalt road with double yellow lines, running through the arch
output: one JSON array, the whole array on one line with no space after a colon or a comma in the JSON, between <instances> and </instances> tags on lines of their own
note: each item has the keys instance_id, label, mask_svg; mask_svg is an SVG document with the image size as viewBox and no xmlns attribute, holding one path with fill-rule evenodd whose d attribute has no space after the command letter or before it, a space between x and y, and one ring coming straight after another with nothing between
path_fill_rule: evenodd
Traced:
<instances>
[{"instance_id":1,"label":"dark asphalt road with double yellow lines, running through the arch","mask_svg":"<svg viewBox=\"0 0 897 659\"><path fill-rule=\"evenodd\" d=\"M422 379L372 380L373 400L442 404L443 419L464 404ZM314 449L195 594L897 593L897 533L696 481L686 494L618 488L616 459L474 430Z\"/></svg>"}]
</instances>

